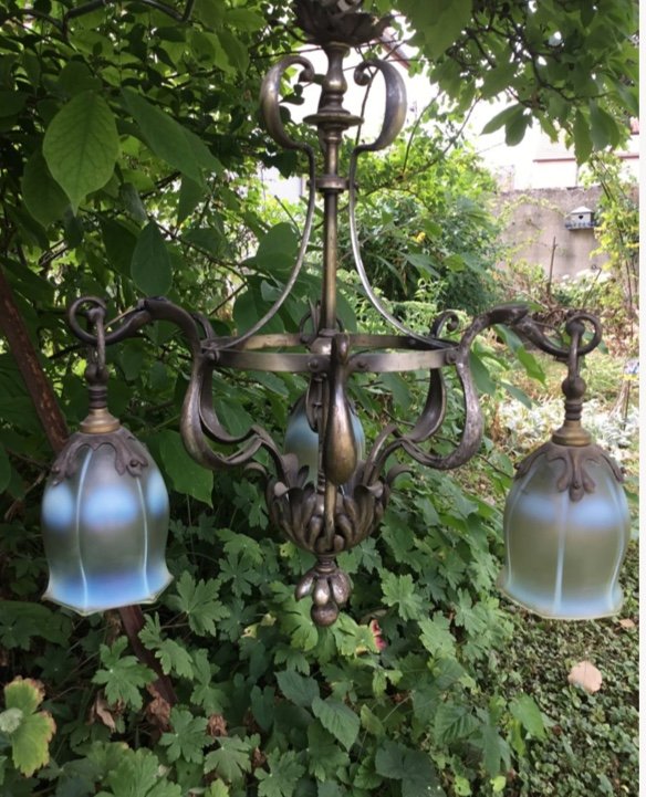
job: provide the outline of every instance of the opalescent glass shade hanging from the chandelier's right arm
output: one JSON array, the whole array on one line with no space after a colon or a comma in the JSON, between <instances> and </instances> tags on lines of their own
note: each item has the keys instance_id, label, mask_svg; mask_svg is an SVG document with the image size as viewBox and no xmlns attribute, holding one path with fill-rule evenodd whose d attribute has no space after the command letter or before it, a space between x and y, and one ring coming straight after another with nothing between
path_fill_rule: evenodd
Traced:
<instances>
[{"instance_id":1,"label":"opalescent glass shade hanging from the chandelier's right arm","mask_svg":"<svg viewBox=\"0 0 646 797\"><path fill-rule=\"evenodd\" d=\"M626 496L607 459L582 461L594 489L581 490L577 500L563 487L566 461L543 453L507 500L499 587L542 617L591 620L622 606L617 577L631 535Z\"/></svg>"}]
</instances>

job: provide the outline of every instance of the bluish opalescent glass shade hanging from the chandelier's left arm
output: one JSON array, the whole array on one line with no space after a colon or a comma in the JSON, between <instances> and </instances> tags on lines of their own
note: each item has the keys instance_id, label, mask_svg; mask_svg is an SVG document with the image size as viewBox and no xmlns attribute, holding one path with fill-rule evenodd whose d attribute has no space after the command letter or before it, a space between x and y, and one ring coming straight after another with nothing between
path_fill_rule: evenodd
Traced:
<instances>
[{"instance_id":1,"label":"bluish opalescent glass shade hanging from the chandelier's left arm","mask_svg":"<svg viewBox=\"0 0 646 797\"><path fill-rule=\"evenodd\" d=\"M119 474L104 442L80 448L74 474L45 487L43 598L80 615L152 602L173 578L165 559L168 493L147 450L129 444L148 463L140 475Z\"/></svg>"}]
</instances>

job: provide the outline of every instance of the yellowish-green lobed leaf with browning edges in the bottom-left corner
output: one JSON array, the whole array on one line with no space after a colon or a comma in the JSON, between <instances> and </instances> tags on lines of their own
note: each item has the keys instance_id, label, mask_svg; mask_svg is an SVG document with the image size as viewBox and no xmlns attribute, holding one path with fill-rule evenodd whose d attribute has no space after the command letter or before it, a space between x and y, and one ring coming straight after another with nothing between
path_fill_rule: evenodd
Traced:
<instances>
[{"instance_id":1,"label":"yellowish-green lobed leaf with browning edges in the bottom-left corner","mask_svg":"<svg viewBox=\"0 0 646 797\"><path fill-rule=\"evenodd\" d=\"M0 727L11 744L14 766L27 777L49 763L56 731L48 711L37 713L43 698L43 685L32 679L15 678L4 686L7 711L0 714Z\"/></svg>"}]
</instances>

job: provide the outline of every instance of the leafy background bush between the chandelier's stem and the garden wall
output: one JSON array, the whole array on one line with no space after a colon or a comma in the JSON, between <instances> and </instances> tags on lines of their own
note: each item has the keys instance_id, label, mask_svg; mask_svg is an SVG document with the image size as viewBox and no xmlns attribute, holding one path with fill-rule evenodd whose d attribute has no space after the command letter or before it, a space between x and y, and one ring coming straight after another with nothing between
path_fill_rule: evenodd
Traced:
<instances>
[{"instance_id":1,"label":"leafy background bush between the chandelier's stem and the garden wall","mask_svg":"<svg viewBox=\"0 0 646 797\"><path fill-rule=\"evenodd\" d=\"M419 123L360 174L362 256L390 301L424 284L427 303L479 313L496 301L494 182L458 130L447 146L450 115L431 106Z\"/></svg>"}]
</instances>

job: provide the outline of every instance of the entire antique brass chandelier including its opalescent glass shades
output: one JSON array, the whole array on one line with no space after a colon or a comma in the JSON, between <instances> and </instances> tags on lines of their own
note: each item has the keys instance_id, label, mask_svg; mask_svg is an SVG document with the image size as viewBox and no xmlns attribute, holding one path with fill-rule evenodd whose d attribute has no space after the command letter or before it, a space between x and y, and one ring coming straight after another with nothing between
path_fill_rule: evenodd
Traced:
<instances>
[{"instance_id":1,"label":"entire antique brass chandelier including its opalescent glass shades","mask_svg":"<svg viewBox=\"0 0 646 797\"><path fill-rule=\"evenodd\" d=\"M301 153L309 164L300 249L271 310L251 328L222 337L204 315L163 297L143 298L110 323L101 298L83 296L70 307L72 333L88 348L90 412L54 462L43 497L42 529L50 567L45 598L85 615L152 602L171 580L165 560L168 495L146 448L107 409L106 346L153 322L179 327L192 361L180 421L184 444L205 468L243 468L262 476L272 525L315 557L295 595L311 597L313 621L329 626L352 589L336 557L378 529L394 483L407 470L404 463L392 465L393 454L445 471L462 465L478 451L483 418L469 369L470 347L485 329L504 325L563 363L566 377L564 422L520 464L507 501L507 553L499 587L513 601L544 617L590 619L618 611L617 576L629 537L622 474L581 424L585 382L580 367L601 342L598 319L573 312L560 332L539 323L527 306L507 304L478 315L454 340L446 337L447 331L456 329L454 313L441 313L428 332L415 332L386 308L371 285L356 224L357 164L395 140L405 119L406 92L387 61L366 60L356 67L354 81L361 86L381 75L385 109L375 140L352 149L344 174L344 134L363 122L344 107L344 59L351 48L378 40L388 23L387 18L362 12L360 6L345 0L296 0L298 24L326 54L326 73L317 77L308 59L289 55L262 84L260 107L269 134L280 146ZM301 82L316 82L321 87L316 113L304 119L317 133L319 153L293 137L292 128L288 130L283 123L281 86L294 67ZM303 308L299 332L263 333L299 279L319 195L323 206L320 301ZM345 196L354 265L389 334L351 334L337 317L337 230L340 200ZM222 426L212 378L230 370L304 375L308 388L290 411L282 441L260 426L251 426L239 437ZM445 374L449 370L462 394L463 420L452 450L440 454L434 451L433 440L446 416ZM367 441L348 397L353 377L406 371L428 373L419 417L405 429L390 422ZM222 453L223 448L229 453Z\"/></svg>"}]
</instances>

